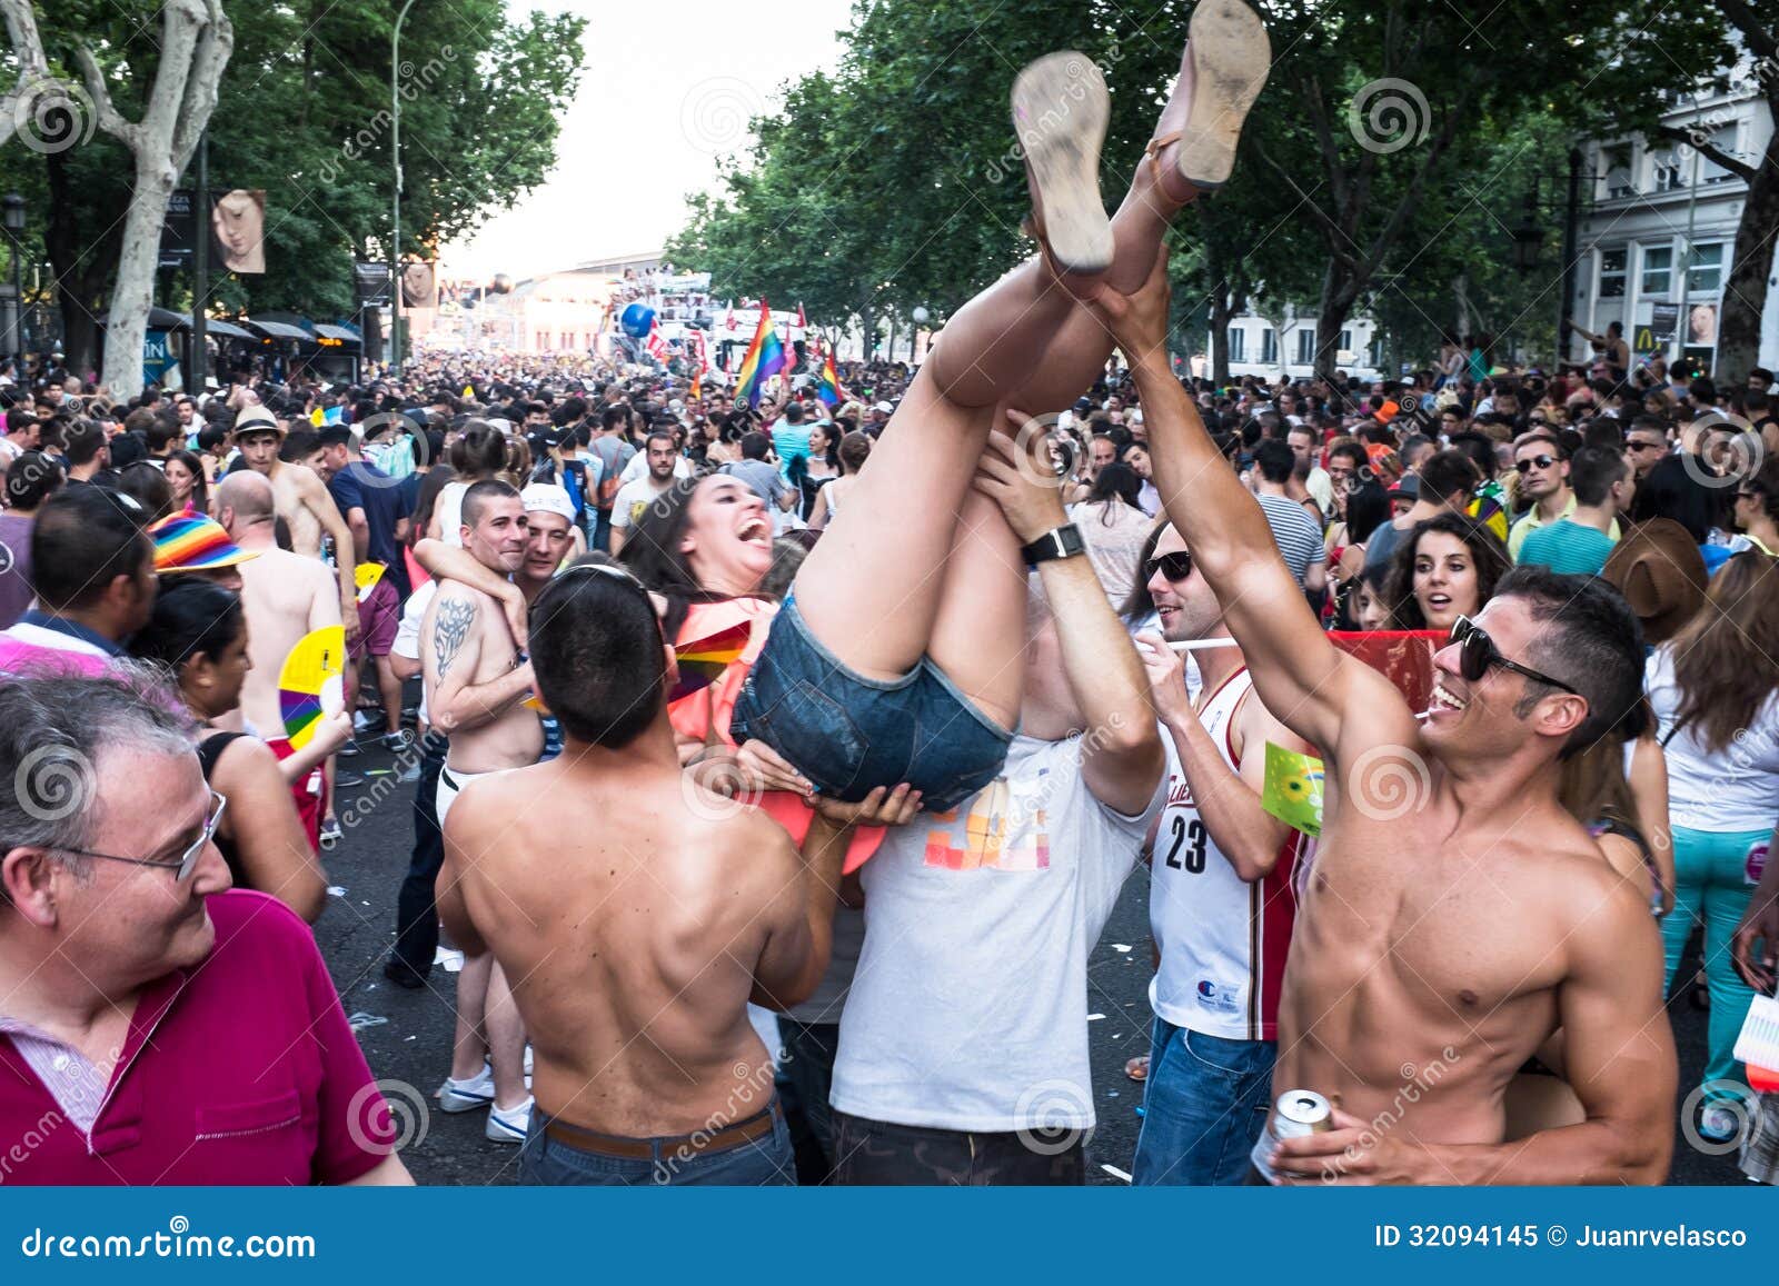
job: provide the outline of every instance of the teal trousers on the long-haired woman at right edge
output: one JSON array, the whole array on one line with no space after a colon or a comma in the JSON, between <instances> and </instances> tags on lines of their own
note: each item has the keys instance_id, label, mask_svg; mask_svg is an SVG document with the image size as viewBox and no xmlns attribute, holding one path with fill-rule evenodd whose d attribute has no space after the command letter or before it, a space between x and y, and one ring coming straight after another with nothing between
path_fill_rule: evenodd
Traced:
<instances>
[{"instance_id":1,"label":"teal trousers on the long-haired woman at right edge","mask_svg":"<svg viewBox=\"0 0 1779 1286\"><path fill-rule=\"evenodd\" d=\"M1711 993L1711 1021L1706 1035L1704 1083L1736 1081L1747 1085L1749 1071L1736 1062L1736 1035L1749 1017L1754 991L1736 973L1729 959L1729 939L1754 896L1759 872L1751 861L1756 845L1765 845L1772 831L1692 831L1674 827L1674 911L1662 921L1662 950L1667 957L1667 987L1686 950L1694 920L1704 921L1704 980ZM1729 1094L1713 1087L1710 1099Z\"/></svg>"}]
</instances>

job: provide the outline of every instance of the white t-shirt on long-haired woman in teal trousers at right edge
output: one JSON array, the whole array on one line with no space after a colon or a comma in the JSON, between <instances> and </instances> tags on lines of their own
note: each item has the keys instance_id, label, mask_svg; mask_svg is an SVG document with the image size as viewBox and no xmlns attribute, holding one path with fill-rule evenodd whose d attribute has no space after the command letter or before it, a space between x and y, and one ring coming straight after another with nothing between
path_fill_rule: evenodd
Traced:
<instances>
[{"instance_id":1,"label":"white t-shirt on long-haired woman in teal trousers at right edge","mask_svg":"<svg viewBox=\"0 0 1779 1286\"><path fill-rule=\"evenodd\" d=\"M1669 822L1688 831L1770 831L1779 824L1779 694L1742 715L1742 731L1722 751L1706 751L1694 729L1674 733L1679 687L1672 644L1656 647L1644 671L1669 767Z\"/></svg>"}]
</instances>

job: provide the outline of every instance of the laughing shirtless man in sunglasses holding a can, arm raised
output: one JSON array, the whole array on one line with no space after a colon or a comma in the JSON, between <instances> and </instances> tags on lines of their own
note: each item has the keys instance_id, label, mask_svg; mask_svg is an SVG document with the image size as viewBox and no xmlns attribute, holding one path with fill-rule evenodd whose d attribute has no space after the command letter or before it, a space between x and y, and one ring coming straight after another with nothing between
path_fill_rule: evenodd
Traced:
<instances>
[{"instance_id":1,"label":"laughing shirtless man in sunglasses holding a can, arm raised","mask_svg":"<svg viewBox=\"0 0 1779 1286\"><path fill-rule=\"evenodd\" d=\"M1642 694L1637 617L1596 580L1519 567L1434 656L1418 720L1306 610L1258 507L1167 377L1167 277L1096 302L1128 354L1156 484L1254 690L1325 760L1325 811L1279 998L1272 1092L1334 1129L1258 1179L1660 1183L1674 1041L1647 904L1557 800L1557 761ZM1582 1124L1507 1142L1509 1080L1557 1030Z\"/></svg>"}]
</instances>

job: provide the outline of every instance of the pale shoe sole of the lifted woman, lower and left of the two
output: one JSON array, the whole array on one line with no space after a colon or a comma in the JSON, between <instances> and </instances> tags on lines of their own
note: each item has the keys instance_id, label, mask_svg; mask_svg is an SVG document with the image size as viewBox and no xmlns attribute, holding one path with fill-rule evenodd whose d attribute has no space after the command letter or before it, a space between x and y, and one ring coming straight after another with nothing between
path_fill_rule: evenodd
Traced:
<instances>
[{"instance_id":1,"label":"pale shoe sole of the lifted woman, lower and left of the two","mask_svg":"<svg viewBox=\"0 0 1779 1286\"><path fill-rule=\"evenodd\" d=\"M1069 272L1112 265L1112 221L1099 199L1099 144L1110 114L1105 76L1085 53L1046 53L1012 82L1012 128L1037 224L1050 256Z\"/></svg>"}]
</instances>

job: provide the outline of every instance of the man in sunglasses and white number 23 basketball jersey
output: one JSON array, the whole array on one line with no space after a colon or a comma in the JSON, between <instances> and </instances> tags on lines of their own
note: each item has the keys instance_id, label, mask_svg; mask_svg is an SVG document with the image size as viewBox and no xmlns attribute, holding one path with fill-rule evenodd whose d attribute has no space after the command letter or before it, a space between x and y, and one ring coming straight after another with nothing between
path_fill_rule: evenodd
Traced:
<instances>
[{"instance_id":1,"label":"man in sunglasses and white number 23 basketball jersey","mask_svg":"<svg viewBox=\"0 0 1779 1286\"><path fill-rule=\"evenodd\" d=\"M1131 1181L1238 1185L1267 1124L1292 877L1304 836L1260 804L1267 745L1309 747L1254 694L1242 649L1194 653L1187 695L1167 644L1229 639L1222 607L1167 526L1147 564L1162 635L1137 637L1167 749L1167 806L1151 843L1149 928L1162 953L1149 1081Z\"/></svg>"}]
</instances>

